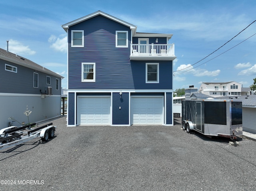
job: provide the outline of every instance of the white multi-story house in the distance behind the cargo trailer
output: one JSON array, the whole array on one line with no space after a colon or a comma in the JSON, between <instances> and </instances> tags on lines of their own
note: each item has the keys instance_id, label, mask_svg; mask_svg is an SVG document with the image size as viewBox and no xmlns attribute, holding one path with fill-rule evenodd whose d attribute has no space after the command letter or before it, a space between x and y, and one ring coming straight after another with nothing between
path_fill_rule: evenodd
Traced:
<instances>
[{"instance_id":1,"label":"white multi-story house in the distance behind the cargo trailer","mask_svg":"<svg viewBox=\"0 0 256 191\"><path fill-rule=\"evenodd\" d=\"M247 90L246 90L247 91ZM242 84L236 81L230 82L203 82L198 90L199 93L219 96L248 95L248 92L242 92Z\"/></svg>"}]
</instances>

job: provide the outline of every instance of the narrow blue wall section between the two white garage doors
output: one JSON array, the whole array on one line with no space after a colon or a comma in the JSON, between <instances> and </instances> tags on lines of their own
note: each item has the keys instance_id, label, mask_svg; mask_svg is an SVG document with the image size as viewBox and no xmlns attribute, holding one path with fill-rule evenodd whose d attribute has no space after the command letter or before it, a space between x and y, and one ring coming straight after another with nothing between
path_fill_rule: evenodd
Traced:
<instances>
[{"instance_id":1,"label":"narrow blue wall section between the two white garage doors","mask_svg":"<svg viewBox=\"0 0 256 191\"><path fill-rule=\"evenodd\" d=\"M129 124L129 93L112 94L112 123L120 125ZM119 109L121 107L121 109Z\"/></svg>"}]
</instances>

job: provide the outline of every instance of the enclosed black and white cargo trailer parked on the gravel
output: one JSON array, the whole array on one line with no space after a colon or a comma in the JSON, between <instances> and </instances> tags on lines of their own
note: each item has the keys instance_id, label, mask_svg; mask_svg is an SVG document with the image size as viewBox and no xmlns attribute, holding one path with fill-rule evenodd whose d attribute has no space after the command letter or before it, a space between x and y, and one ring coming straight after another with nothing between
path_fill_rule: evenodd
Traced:
<instances>
[{"instance_id":1,"label":"enclosed black and white cargo trailer parked on the gravel","mask_svg":"<svg viewBox=\"0 0 256 191\"><path fill-rule=\"evenodd\" d=\"M236 139L242 136L242 102L238 100L182 101L182 128L207 136Z\"/></svg>"}]
</instances>

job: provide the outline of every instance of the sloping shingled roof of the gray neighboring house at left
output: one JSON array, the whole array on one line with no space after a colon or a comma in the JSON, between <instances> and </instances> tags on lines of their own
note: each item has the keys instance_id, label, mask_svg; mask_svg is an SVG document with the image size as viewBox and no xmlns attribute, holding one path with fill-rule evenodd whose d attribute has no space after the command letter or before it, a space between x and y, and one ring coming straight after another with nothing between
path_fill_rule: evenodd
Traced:
<instances>
[{"instance_id":1,"label":"sloping shingled roof of the gray neighboring house at left","mask_svg":"<svg viewBox=\"0 0 256 191\"><path fill-rule=\"evenodd\" d=\"M30 69L34 69L34 70L37 70L37 71L40 71L40 72L43 72L43 73L46 73L49 75L53 75L55 77L64 78L63 76L61 76L53 71L50 71L49 69L42 67L29 59L26 59L24 57L21 57L19 55L16 55L14 53L6 51L2 48L0 48L0 59L18 64L18 65L21 65L21 66L24 66L24 67L27 67Z\"/></svg>"}]
</instances>

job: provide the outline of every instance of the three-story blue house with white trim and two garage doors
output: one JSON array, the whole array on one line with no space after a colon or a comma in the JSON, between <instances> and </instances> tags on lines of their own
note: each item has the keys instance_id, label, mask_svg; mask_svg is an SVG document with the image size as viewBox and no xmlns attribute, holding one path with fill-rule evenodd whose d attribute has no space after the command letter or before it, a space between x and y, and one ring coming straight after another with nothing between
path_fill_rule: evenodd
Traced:
<instances>
[{"instance_id":1,"label":"three-story blue house with white trim and two garage doors","mask_svg":"<svg viewBox=\"0 0 256 191\"><path fill-rule=\"evenodd\" d=\"M173 125L172 34L97 11L68 34L68 126Z\"/></svg>"}]
</instances>

